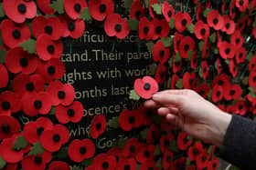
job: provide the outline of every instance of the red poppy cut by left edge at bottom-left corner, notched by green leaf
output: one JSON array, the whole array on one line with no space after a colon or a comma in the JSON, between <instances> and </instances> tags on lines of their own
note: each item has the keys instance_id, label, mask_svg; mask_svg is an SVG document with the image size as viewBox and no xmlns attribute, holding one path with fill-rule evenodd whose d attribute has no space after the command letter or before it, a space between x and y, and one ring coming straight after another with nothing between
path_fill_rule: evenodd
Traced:
<instances>
[{"instance_id":1,"label":"red poppy cut by left edge at bottom-left corner, notched by green leaf","mask_svg":"<svg viewBox=\"0 0 256 170\"><path fill-rule=\"evenodd\" d=\"M7 163L18 163L23 159L24 151L22 149L19 151L12 149L15 141L15 137L5 138L0 145L0 155Z\"/></svg>"}]
</instances>

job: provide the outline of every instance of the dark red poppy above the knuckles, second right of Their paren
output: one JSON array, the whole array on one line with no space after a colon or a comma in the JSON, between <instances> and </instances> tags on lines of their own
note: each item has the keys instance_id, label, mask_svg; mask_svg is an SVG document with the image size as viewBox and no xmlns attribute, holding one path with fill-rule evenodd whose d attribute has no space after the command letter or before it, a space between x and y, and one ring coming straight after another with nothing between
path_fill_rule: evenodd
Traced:
<instances>
[{"instance_id":1,"label":"dark red poppy above the knuckles, second right of Their paren","mask_svg":"<svg viewBox=\"0 0 256 170\"><path fill-rule=\"evenodd\" d=\"M178 51L182 58L187 58L188 51L192 51L195 48L195 43L193 38L186 36L180 41Z\"/></svg>"}]
</instances>

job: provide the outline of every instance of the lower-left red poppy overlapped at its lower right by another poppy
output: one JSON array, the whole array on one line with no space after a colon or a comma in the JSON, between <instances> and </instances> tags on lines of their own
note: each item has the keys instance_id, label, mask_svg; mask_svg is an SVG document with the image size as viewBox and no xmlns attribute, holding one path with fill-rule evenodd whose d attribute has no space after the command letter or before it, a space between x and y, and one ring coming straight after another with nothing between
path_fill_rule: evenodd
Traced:
<instances>
[{"instance_id":1,"label":"lower-left red poppy overlapped at its lower right by another poppy","mask_svg":"<svg viewBox=\"0 0 256 170\"><path fill-rule=\"evenodd\" d=\"M39 117L36 122L28 122L24 126L24 137L30 144L40 141L40 136L45 130L52 130L53 123L46 117Z\"/></svg>"}]
</instances>

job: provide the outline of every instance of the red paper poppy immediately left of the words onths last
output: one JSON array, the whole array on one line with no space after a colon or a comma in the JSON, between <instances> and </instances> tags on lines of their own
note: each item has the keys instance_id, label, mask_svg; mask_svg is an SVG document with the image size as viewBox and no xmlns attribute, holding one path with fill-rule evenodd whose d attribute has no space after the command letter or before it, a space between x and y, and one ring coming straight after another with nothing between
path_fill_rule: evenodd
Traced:
<instances>
[{"instance_id":1,"label":"red paper poppy immediately left of the words onths last","mask_svg":"<svg viewBox=\"0 0 256 170\"><path fill-rule=\"evenodd\" d=\"M52 105L70 105L75 98L75 90L72 85L62 84L59 80L48 85L47 92L52 97Z\"/></svg>"}]
</instances>

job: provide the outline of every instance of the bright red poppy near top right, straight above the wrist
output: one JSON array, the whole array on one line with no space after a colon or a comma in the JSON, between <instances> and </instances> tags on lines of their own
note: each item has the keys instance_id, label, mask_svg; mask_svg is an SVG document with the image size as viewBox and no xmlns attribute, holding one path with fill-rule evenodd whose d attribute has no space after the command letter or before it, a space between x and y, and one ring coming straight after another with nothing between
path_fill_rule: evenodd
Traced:
<instances>
[{"instance_id":1,"label":"bright red poppy near top right, straight above the wrist","mask_svg":"<svg viewBox=\"0 0 256 170\"><path fill-rule=\"evenodd\" d=\"M223 17L219 15L217 10L211 10L208 13L208 25L219 31L223 27Z\"/></svg>"}]
</instances>

